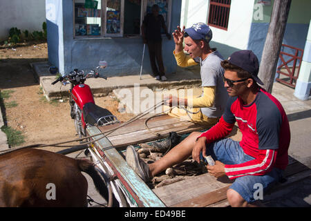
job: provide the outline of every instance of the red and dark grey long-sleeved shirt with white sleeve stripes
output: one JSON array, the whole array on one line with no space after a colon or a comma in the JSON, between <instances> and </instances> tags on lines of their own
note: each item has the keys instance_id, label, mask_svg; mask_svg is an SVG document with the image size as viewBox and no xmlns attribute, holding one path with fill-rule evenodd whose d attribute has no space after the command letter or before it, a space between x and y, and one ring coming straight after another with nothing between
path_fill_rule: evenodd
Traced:
<instances>
[{"instance_id":1,"label":"red and dark grey long-sleeved shirt with white sleeve stripes","mask_svg":"<svg viewBox=\"0 0 311 221\"><path fill-rule=\"evenodd\" d=\"M225 173L230 179L243 175L263 175L274 166L285 169L288 165L290 125L283 106L275 97L263 88L258 90L254 102L247 106L243 105L240 97L230 97L218 124L200 137L207 137L208 143L214 142L229 135L235 122L243 136L240 146L254 160L243 164L226 164Z\"/></svg>"}]
</instances>

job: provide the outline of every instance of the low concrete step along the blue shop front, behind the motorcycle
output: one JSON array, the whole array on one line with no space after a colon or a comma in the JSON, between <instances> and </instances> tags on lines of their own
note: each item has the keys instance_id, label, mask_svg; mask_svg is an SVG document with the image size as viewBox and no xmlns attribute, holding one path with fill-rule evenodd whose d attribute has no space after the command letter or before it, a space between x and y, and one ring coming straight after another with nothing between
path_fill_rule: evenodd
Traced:
<instances>
[{"instance_id":1,"label":"low concrete step along the blue shop front, behind the motorcycle","mask_svg":"<svg viewBox=\"0 0 311 221\"><path fill-rule=\"evenodd\" d=\"M68 90L70 85L62 85L61 82L57 82L55 85L51 85L55 81L56 76L49 73L48 68L50 64L48 61L36 62L30 64L32 69L35 70L35 77L38 79L39 84L46 96L46 99L59 99L61 97L68 97ZM102 75L105 75L104 70ZM167 81L157 81L151 75L126 75L109 77L107 80L102 78L87 79L86 84L91 87L94 95L108 95L118 88L131 88L134 86L155 88L176 88L187 86L200 86L200 71L198 68L179 68L176 73L169 73L166 75Z\"/></svg>"}]
</instances>

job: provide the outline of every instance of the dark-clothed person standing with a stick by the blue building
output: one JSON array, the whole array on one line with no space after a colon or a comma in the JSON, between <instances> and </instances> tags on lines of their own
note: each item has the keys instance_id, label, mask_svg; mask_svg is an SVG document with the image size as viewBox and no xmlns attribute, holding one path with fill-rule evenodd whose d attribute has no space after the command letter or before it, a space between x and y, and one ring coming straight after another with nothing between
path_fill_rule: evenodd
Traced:
<instances>
[{"instance_id":1,"label":"dark-clothed person standing with a stick by the blue building","mask_svg":"<svg viewBox=\"0 0 311 221\"><path fill-rule=\"evenodd\" d=\"M159 10L159 6L155 4L151 7L151 13L144 17L144 21L142 21L142 38L144 44L148 45L151 68L155 79L166 81L167 77L165 77L162 58L161 28L163 28L169 40L171 35L167 32L167 26L163 16L159 15Z\"/></svg>"}]
</instances>

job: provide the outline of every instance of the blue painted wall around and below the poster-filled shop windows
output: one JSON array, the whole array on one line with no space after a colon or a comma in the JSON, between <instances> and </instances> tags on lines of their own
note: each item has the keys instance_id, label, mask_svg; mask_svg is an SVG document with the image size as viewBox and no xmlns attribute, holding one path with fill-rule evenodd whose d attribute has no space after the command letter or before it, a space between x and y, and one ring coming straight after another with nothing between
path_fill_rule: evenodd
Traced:
<instances>
[{"instance_id":1,"label":"blue painted wall around and below the poster-filled shop windows","mask_svg":"<svg viewBox=\"0 0 311 221\"><path fill-rule=\"evenodd\" d=\"M98 66L98 61L106 60L108 67L105 75L140 75L143 43L141 37L102 38L102 39L73 39L73 1L46 0L46 4L55 4L54 21L48 26L48 60L64 74L80 68L90 70ZM181 1L172 1L171 30L173 32L180 23ZM48 12L48 10L47 10ZM52 19L50 19L52 20ZM64 28L62 28L64 27ZM162 53L166 73L176 71L176 61L173 57L175 44L163 37ZM143 73L151 73L149 52L146 47L144 54Z\"/></svg>"}]
</instances>

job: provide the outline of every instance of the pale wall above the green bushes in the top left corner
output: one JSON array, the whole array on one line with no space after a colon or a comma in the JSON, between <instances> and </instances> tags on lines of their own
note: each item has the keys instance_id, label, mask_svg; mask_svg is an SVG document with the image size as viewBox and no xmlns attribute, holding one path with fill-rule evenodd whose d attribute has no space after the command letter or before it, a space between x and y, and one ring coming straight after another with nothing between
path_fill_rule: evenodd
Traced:
<instances>
[{"instance_id":1,"label":"pale wall above the green bushes in the top left corner","mask_svg":"<svg viewBox=\"0 0 311 221\"><path fill-rule=\"evenodd\" d=\"M45 0L0 0L0 41L8 38L9 30L41 31L46 21Z\"/></svg>"}]
</instances>

